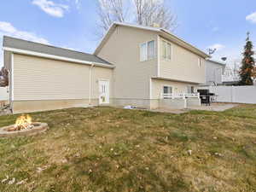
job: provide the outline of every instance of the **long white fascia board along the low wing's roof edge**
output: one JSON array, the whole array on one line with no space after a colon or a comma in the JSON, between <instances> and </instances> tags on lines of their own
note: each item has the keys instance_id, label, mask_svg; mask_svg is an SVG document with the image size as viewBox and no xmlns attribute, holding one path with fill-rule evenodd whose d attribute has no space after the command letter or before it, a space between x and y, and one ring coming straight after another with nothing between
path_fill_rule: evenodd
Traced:
<instances>
[{"instance_id":1,"label":"long white fascia board along the low wing's roof edge","mask_svg":"<svg viewBox=\"0 0 256 192\"><path fill-rule=\"evenodd\" d=\"M38 52L35 52L35 51L31 51L31 50L15 49L15 48L9 48L9 47L3 47L3 50L10 51L10 52L17 53L17 54L21 54L21 55L33 55L33 56L44 57L44 58L47 58L47 59L54 59L54 60L59 60L59 61L69 61L69 62L76 62L76 63L85 64L85 65L90 65L90 66L95 65L95 66L99 66L99 67L113 68L113 66L104 65L104 64L98 63L98 62L82 61L82 60L77 60L77 59L71 59L71 58L64 57L64 56L38 53Z\"/></svg>"}]
</instances>

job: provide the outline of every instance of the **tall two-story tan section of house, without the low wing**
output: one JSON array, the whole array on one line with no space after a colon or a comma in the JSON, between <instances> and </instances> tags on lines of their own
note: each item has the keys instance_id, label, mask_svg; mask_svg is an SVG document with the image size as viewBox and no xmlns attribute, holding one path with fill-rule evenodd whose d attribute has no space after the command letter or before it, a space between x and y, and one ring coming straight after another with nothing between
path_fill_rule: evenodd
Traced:
<instances>
[{"instance_id":1,"label":"tall two-story tan section of house, without the low wing","mask_svg":"<svg viewBox=\"0 0 256 192\"><path fill-rule=\"evenodd\" d=\"M94 54L115 66L118 105L158 108L163 94L193 93L206 79L208 55L162 28L114 23Z\"/></svg>"}]
</instances>

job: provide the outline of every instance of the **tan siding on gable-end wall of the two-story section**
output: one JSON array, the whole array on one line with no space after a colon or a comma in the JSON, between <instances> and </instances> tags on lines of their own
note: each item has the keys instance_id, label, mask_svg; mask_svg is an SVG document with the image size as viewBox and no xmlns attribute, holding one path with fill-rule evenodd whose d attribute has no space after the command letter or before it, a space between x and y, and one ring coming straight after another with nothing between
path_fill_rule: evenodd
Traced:
<instances>
[{"instance_id":1,"label":"tan siding on gable-end wall of the two-story section","mask_svg":"<svg viewBox=\"0 0 256 192\"><path fill-rule=\"evenodd\" d=\"M157 57L151 61L140 61L140 44L152 40L156 48L155 32L118 26L103 45L98 56L115 66L114 98L149 99L150 78L157 75Z\"/></svg>"}]
</instances>

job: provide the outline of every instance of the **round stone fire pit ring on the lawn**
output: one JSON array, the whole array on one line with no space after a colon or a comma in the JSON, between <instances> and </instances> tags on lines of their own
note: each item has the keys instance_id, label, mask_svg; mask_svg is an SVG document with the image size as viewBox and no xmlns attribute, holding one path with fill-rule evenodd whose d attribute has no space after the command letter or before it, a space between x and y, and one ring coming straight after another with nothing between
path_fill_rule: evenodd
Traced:
<instances>
[{"instance_id":1,"label":"round stone fire pit ring on the lawn","mask_svg":"<svg viewBox=\"0 0 256 192\"><path fill-rule=\"evenodd\" d=\"M46 123L32 123L33 127L31 129L25 129L20 131L9 131L15 125L4 126L0 128L0 137L19 137L19 136L32 136L42 133L49 129Z\"/></svg>"}]
</instances>

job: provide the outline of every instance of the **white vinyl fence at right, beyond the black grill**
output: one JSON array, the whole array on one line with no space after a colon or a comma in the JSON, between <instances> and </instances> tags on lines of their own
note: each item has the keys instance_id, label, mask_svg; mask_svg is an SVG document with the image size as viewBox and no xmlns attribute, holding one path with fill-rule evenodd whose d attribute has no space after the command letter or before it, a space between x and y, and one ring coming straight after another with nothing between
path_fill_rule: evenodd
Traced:
<instances>
[{"instance_id":1,"label":"white vinyl fence at right, beyond the black grill","mask_svg":"<svg viewBox=\"0 0 256 192\"><path fill-rule=\"evenodd\" d=\"M256 86L210 86L215 93L216 102L237 102L256 104Z\"/></svg>"}]
</instances>

